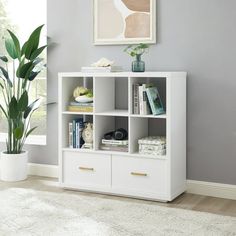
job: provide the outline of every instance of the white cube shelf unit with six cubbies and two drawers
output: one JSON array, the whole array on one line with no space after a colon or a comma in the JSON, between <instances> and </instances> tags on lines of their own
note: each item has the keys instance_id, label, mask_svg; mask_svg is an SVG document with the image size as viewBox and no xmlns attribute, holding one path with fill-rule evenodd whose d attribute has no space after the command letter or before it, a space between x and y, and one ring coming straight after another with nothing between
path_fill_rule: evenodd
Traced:
<instances>
[{"instance_id":1,"label":"white cube shelf unit with six cubbies and two drawers","mask_svg":"<svg viewBox=\"0 0 236 236\"><path fill-rule=\"evenodd\" d=\"M135 198L172 201L186 190L186 72L59 73L59 167L63 188ZM166 113L133 114L132 85L158 87ZM92 113L68 112L76 86L93 89ZM93 122L92 150L68 147L68 124ZM129 132L128 152L99 149L103 135L116 128ZM138 153L138 139L166 136L166 155Z\"/></svg>"}]
</instances>

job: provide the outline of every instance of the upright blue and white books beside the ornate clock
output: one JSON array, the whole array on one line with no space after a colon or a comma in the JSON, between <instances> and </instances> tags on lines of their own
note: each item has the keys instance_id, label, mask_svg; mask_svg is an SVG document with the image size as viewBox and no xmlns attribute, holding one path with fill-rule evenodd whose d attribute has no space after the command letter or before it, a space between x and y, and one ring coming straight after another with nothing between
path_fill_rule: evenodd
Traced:
<instances>
[{"instance_id":1,"label":"upright blue and white books beside the ornate clock","mask_svg":"<svg viewBox=\"0 0 236 236\"><path fill-rule=\"evenodd\" d=\"M82 118L74 119L69 123L69 147L81 148L84 144L82 132L84 129L84 121Z\"/></svg>"}]
</instances>

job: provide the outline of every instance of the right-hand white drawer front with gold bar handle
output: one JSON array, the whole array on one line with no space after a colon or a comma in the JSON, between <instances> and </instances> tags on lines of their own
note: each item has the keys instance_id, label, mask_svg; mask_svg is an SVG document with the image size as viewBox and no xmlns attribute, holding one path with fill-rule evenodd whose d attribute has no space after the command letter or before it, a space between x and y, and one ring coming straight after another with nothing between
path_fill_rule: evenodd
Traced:
<instances>
[{"instance_id":1,"label":"right-hand white drawer front with gold bar handle","mask_svg":"<svg viewBox=\"0 0 236 236\"><path fill-rule=\"evenodd\" d=\"M166 160L112 156L112 187L142 195L164 195L167 190L166 167Z\"/></svg>"}]
</instances>

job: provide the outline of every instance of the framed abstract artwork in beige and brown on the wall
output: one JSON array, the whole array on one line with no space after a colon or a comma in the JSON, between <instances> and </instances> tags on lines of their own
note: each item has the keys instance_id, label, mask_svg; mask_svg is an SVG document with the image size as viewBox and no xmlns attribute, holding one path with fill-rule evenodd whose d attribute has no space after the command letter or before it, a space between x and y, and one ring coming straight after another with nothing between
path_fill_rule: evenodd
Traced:
<instances>
[{"instance_id":1,"label":"framed abstract artwork in beige and brown on the wall","mask_svg":"<svg viewBox=\"0 0 236 236\"><path fill-rule=\"evenodd\" d=\"M94 44L156 43L156 0L94 0Z\"/></svg>"}]
</instances>

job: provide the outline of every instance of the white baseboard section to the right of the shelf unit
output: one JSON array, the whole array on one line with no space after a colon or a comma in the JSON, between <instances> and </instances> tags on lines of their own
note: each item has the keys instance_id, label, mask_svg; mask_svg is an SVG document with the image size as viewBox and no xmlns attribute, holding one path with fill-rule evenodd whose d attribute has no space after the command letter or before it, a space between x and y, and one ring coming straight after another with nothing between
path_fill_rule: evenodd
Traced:
<instances>
[{"instance_id":1,"label":"white baseboard section to the right of the shelf unit","mask_svg":"<svg viewBox=\"0 0 236 236\"><path fill-rule=\"evenodd\" d=\"M236 185L187 180L187 192L236 200Z\"/></svg>"}]
</instances>

